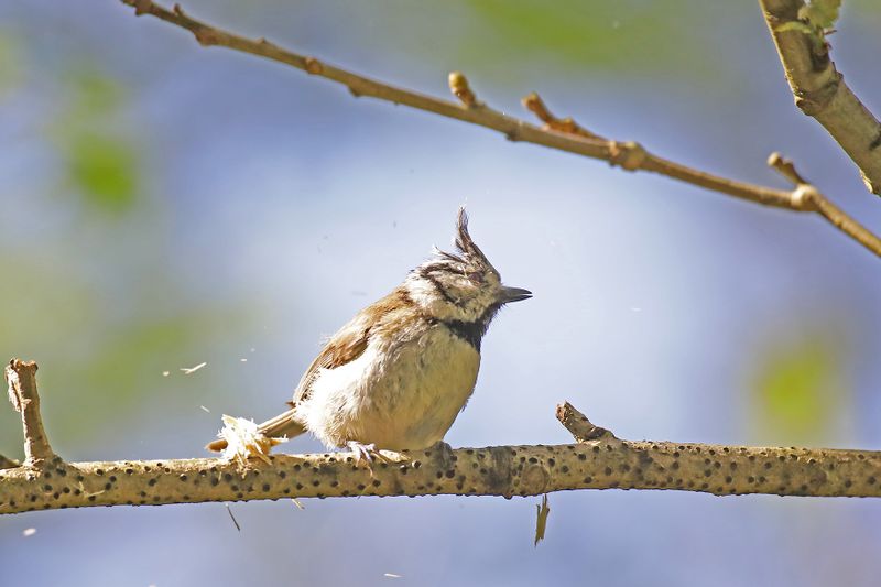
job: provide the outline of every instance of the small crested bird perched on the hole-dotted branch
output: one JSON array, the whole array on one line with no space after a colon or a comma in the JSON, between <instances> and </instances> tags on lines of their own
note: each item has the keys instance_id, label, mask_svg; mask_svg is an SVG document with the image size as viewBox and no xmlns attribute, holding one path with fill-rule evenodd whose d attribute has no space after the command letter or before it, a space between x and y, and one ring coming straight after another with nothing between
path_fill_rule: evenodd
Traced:
<instances>
[{"instance_id":1,"label":"small crested bird perched on the hole-dotted branch","mask_svg":"<svg viewBox=\"0 0 881 587\"><path fill-rule=\"evenodd\" d=\"M385 297L333 335L297 384L290 409L258 426L267 437L311 432L328 448L371 460L443 443L477 383L481 341L505 304L532 297L502 284L458 210L457 252L434 248ZM445 445L448 447L448 445ZM206 446L220 452L225 439Z\"/></svg>"}]
</instances>

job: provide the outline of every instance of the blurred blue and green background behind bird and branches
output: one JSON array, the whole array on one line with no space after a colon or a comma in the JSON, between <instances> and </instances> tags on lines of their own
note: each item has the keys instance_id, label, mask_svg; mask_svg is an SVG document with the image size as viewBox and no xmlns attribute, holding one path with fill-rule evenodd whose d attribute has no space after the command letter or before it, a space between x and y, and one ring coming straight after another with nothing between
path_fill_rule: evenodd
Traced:
<instances>
[{"instance_id":1,"label":"blurred blue and green background behind bird and branches","mask_svg":"<svg viewBox=\"0 0 881 587\"><path fill-rule=\"evenodd\" d=\"M460 69L507 112L537 90L605 135L785 187L764 164L779 150L881 230L881 202L793 107L758 7L663 4L185 9L437 96ZM870 4L848 4L833 55L879 112ZM117 2L2 4L0 50L0 356L40 362L67 459L204 456L220 414L276 413L323 336L449 244L463 203L504 280L535 297L492 325L452 445L568 442L562 400L626 438L881 444L881 262L818 218L356 100ZM0 453L21 453L11 409ZM4 517L0 583L813 586L881 572L874 500L556 493L535 548L537 502L237 503L241 532L219 503Z\"/></svg>"}]
</instances>

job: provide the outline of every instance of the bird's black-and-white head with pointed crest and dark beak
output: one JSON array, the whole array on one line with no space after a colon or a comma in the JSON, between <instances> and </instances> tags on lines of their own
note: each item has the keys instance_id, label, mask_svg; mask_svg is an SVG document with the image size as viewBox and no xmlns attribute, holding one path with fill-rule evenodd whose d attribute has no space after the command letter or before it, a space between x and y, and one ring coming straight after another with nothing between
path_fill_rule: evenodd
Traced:
<instances>
[{"instance_id":1,"label":"bird's black-and-white head with pointed crest and dark beak","mask_svg":"<svg viewBox=\"0 0 881 587\"><path fill-rule=\"evenodd\" d=\"M468 215L459 208L458 254L435 249L435 257L407 275L410 296L440 320L482 323L486 328L504 304L532 297L532 292L502 285L501 275L468 233Z\"/></svg>"}]
</instances>

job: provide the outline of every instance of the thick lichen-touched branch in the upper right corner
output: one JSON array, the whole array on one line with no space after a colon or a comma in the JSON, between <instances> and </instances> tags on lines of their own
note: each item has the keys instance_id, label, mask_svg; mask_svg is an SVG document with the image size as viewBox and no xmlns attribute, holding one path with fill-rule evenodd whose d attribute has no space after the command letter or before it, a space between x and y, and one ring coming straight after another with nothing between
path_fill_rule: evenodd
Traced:
<instances>
[{"instance_id":1,"label":"thick lichen-touched branch in the upper right corner","mask_svg":"<svg viewBox=\"0 0 881 587\"><path fill-rule=\"evenodd\" d=\"M881 196L881 123L845 84L829 58L823 26L803 0L759 0L797 106L823 124ZM829 23L831 24L831 23Z\"/></svg>"}]
</instances>

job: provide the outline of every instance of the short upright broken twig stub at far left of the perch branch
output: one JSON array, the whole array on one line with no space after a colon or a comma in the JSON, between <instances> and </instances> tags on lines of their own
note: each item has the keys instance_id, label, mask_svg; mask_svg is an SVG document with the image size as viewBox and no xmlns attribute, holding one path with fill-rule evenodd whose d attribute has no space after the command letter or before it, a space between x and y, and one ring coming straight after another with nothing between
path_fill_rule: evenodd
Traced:
<instances>
[{"instance_id":1,"label":"short upright broken twig stub at far left of the perch branch","mask_svg":"<svg viewBox=\"0 0 881 587\"><path fill-rule=\"evenodd\" d=\"M12 359L6 368L6 379L9 385L9 401L15 411L21 413L21 425L24 431L24 465L36 467L55 458L40 415L36 363Z\"/></svg>"}]
</instances>

